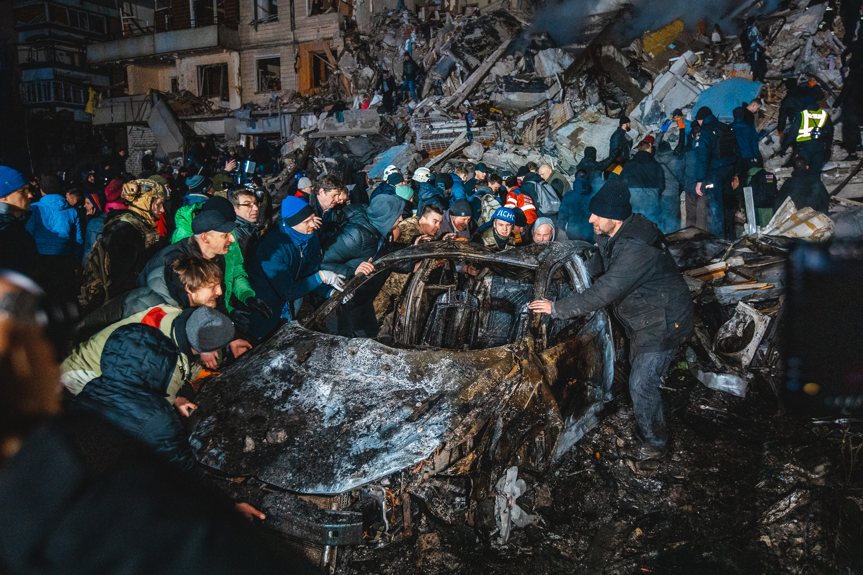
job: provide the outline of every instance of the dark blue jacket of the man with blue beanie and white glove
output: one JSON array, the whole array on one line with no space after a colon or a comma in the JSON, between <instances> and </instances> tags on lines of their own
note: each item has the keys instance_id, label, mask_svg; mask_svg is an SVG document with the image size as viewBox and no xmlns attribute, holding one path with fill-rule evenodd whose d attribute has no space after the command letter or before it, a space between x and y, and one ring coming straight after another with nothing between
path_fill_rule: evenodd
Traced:
<instances>
[{"instance_id":1,"label":"dark blue jacket of the man with blue beanie and white glove","mask_svg":"<svg viewBox=\"0 0 863 575\"><path fill-rule=\"evenodd\" d=\"M279 225L264 234L246 264L255 295L273 310L269 317L256 311L251 314L249 333L259 339L278 325L286 303L314 290L325 296L331 289L321 282L318 275L322 255L318 234L312 234L309 241L299 246L285 231L286 225L281 220Z\"/></svg>"}]
</instances>

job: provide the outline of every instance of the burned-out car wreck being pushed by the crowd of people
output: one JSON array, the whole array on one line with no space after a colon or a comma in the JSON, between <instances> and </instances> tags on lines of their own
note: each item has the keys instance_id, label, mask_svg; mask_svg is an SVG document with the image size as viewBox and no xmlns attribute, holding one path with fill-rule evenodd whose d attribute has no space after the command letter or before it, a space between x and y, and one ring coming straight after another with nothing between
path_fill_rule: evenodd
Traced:
<instances>
[{"instance_id":1,"label":"burned-out car wreck being pushed by the crowd of people","mask_svg":"<svg viewBox=\"0 0 863 575\"><path fill-rule=\"evenodd\" d=\"M545 472L612 399L608 312L526 309L588 289L591 249L441 241L388 254L205 383L198 462L256 493L269 527L323 547L324 565L337 546L409 536L418 506L505 539L516 474ZM406 261L415 271L376 338L327 333L345 294ZM476 277L457 273L465 264Z\"/></svg>"}]
</instances>

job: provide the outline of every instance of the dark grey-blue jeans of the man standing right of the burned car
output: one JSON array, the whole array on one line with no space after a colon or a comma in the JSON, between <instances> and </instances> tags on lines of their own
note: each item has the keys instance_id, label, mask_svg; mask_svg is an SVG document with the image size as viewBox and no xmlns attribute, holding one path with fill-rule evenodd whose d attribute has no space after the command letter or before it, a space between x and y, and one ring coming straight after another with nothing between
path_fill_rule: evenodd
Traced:
<instances>
[{"instance_id":1,"label":"dark grey-blue jeans of the man standing right of the burned car","mask_svg":"<svg viewBox=\"0 0 863 575\"><path fill-rule=\"evenodd\" d=\"M677 347L664 352L631 353L633 366L629 374L629 395L633 398L635 423L639 426L641 439L652 447L665 447L665 413L659 385Z\"/></svg>"}]
</instances>

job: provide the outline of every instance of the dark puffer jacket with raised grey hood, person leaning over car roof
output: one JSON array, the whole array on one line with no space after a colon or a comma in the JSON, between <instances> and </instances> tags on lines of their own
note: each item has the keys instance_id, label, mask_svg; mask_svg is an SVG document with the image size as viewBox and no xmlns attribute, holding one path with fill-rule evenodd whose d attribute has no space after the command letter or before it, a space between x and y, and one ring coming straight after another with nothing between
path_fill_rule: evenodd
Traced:
<instances>
[{"instance_id":1,"label":"dark puffer jacket with raised grey hood, person leaning over car roof","mask_svg":"<svg viewBox=\"0 0 863 575\"><path fill-rule=\"evenodd\" d=\"M402 201L398 197L375 197L369 208L356 212L341 234L324 252L321 269L353 277L356 266L373 258L381 238L389 234L401 216Z\"/></svg>"}]
</instances>

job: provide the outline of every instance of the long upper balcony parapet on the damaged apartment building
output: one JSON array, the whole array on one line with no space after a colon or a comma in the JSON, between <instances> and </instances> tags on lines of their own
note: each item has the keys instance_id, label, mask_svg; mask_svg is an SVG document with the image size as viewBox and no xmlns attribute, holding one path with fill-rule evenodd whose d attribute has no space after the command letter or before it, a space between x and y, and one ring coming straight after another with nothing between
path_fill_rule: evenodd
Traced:
<instances>
[{"instance_id":1,"label":"long upper balcony parapet on the damaged apartment building","mask_svg":"<svg viewBox=\"0 0 863 575\"><path fill-rule=\"evenodd\" d=\"M153 56L197 55L239 49L240 33L236 29L224 24L211 24L165 32L153 31L150 34L136 34L114 41L90 44L87 46L87 62L104 64Z\"/></svg>"}]
</instances>

